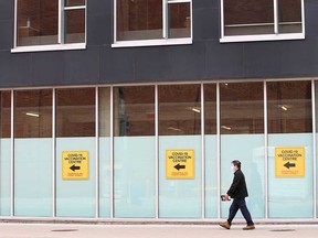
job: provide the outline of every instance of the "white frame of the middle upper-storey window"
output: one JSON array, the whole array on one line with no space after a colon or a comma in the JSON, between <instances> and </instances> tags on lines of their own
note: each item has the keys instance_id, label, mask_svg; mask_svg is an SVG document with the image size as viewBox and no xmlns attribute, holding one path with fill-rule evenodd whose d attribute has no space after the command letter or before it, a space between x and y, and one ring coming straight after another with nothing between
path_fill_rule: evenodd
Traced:
<instances>
[{"instance_id":1,"label":"white frame of the middle upper-storey window","mask_svg":"<svg viewBox=\"0 0 318 238\"><path fill-rule=\"evenodd\" d=\"M190 4L190 36L169 39L168 37L168 19L169 19L169 4L173 3L189 3ZM153 40L128 40L117 41L117 0L114 0L114 39L112 47L135 47L135 46L156 46L156 45L178 45L178 44L192 44L193 40L193 7L192 0L162 0L162 39Z\"/></svg>"}]
</instances>

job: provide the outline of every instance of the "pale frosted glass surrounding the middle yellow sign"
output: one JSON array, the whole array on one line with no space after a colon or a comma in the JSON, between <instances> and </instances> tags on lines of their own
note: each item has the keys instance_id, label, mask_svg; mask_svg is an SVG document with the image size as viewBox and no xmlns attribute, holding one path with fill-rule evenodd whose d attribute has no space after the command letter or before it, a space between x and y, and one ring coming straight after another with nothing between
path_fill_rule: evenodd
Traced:
<instances>
[{"instance_id":1,"label":"pale frosted glass surrounding the middle yellow sign","mask_svg":"<svg viewBox=\"0 0 318 238\"><path fill-rule=\"evenodd\" d=\"M194 150L194 178L166 177L166 150ZM201 214L201 137L159 137L159 217L200 218Z\"/></svg>"}]
</instances>

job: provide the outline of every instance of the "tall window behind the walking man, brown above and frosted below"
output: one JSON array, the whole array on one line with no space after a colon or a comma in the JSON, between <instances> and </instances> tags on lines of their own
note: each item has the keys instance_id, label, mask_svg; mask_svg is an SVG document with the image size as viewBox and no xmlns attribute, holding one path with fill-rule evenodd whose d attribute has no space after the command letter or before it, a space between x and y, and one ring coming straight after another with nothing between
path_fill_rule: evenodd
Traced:
<instances>
[{"instance_id":1,"label":"tall window behind the walking man, brown above and frosted below","mask_svg":"<svg viewBox=\"0 0 318 238\"><path fill-rule=\"evenodd\" d=\"M232 181L231 162L240 160L245 174L253 217L265 217L264 84L220 84L221 194ZM231 203L221 203L226 218Z\"/></svg>"}]
</instances>

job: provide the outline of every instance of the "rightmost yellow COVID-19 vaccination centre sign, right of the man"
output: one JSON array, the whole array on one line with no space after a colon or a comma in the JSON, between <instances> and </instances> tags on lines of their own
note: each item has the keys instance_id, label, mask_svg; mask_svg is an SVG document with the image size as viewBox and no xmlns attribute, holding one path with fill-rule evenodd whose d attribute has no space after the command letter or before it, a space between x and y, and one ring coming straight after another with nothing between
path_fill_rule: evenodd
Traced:
<instances>
[{"instance_id":1,"label":"rightmost yellow COVID-19 vaccination centre sign, right of the man","mask_svg":"<svg viewBox=\"0 0 318 238\"><path fill-rule=\"evenodd\" d=\"M275 148L276 176L305 176L305 148Z\"/></svg>"}]
</instances>

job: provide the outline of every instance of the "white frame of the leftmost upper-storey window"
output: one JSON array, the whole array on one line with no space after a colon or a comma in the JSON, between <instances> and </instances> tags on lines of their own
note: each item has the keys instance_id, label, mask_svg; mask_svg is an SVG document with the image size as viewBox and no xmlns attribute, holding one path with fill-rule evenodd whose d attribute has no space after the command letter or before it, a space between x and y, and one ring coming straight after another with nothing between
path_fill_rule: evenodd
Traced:
<instances>
[{"instance_id":1,"label":"white frame of the leftmost upper-storey window","mask_svg":"<svg viewBox=\"0 0 318 238\"><path fill-rule=\"evenodd\" d=\"M70 50L85 50L87 42L87 0L85 0L85 6L65 6L65 0L59 1L59 29L57 29L57 44L47 44L47 45L26 45L26 46L18 46L18 0L14 0L14 39L13 39L13 48L11 48L11 53L20 53L20 52L42 52L42 51L70 51ZM83 43L65 43L65 12L72 10L85 10L85 42Z\"/></svg>"}]
</instances>

